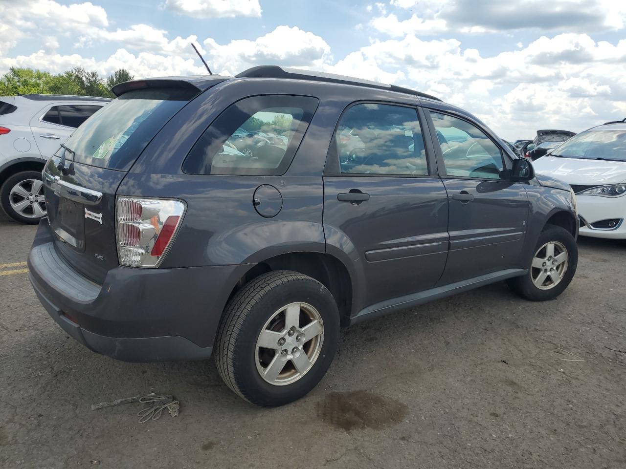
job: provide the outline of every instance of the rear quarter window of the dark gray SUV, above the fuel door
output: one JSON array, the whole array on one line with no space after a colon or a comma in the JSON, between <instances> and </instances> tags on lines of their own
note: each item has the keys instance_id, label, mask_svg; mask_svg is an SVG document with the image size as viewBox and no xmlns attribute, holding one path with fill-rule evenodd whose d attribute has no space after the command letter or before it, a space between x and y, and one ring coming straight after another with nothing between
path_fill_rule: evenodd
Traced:
<instances>
[{"instance_id":1,"label":"rear quarter window of the dark gray SUV, above the fuel door","mask_svg":"<svg viewBox=\"0 0 626 469\"><path fill-rule=\"evenodd\" d=\"M278 176L294 158L317 108L305 96L253 96L223 111L183 163L187 174Z\"/></svg>"}]
</instances>

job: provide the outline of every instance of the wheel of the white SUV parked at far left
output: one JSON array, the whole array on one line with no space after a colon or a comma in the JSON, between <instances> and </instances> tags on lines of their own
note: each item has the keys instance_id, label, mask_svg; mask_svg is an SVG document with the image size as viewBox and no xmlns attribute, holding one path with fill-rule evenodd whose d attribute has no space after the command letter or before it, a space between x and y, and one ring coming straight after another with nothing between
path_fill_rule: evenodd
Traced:
<instances>
[{"instance_id":1,"label":"wheel of the white SUV parked at far left","mask_svg":"<svg viewBox=\"0 0 626 469\"><path fill-rule=\"evenodd\" d=\"M0 189L4 212L16 221L37 224L46 216L43 182L38 171L21 171L10 176Z\"/></svg>"}]
</instances>

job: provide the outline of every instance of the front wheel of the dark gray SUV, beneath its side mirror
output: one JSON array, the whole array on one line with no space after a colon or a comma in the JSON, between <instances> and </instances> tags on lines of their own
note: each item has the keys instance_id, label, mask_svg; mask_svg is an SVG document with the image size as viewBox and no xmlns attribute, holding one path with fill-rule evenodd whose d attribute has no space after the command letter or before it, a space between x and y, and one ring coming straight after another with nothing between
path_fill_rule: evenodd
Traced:
<instances>
[{"instance_id":1,"label":"front wheel of the dark gray SUV, beneath its side mirror","mask_svg":"<svg viewBox=\"0 0 626 469\"><path fill-rule=\"evenodd\" d=\"M548 224L539 236L528 273L507 283L526 300L553 300L570 285L577 265L578 246L572 234Z\"/></svg>"}]
</instances>

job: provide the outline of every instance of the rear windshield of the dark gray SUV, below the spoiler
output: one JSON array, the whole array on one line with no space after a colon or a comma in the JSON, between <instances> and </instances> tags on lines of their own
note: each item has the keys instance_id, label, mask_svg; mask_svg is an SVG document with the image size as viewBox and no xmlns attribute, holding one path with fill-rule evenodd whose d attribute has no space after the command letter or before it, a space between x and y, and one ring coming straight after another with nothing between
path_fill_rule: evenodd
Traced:
<instances>
[{"instance_id":1,"label":"rear windshield of the dark gray SUV, below the spoiler","mask_svg":"<svg viewBox=\"0 0 626 469\"><path fill-rule=\"evenodd\" d=\"M150 140L193 93L138 89L93 114L66 141L65 157L76 163L128 171Z\"/></svg>"}]
</instances>

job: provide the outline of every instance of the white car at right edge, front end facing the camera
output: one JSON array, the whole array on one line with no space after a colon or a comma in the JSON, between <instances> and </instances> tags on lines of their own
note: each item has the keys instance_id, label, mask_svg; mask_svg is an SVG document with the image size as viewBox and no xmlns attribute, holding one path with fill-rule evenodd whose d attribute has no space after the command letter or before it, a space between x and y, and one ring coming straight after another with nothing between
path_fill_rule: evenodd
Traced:
<instances>
[{"instance_id":1,"label":"white car at right edge, front end facing the camera","mask_svg":"<svg viewBox=\"0 0 626 469\"><path fill-rule=\"evenodd\" d=\"M570 138L533 166L572 186L580 235L626 239L626 119Z\"/></svg>"}]
</instances>

